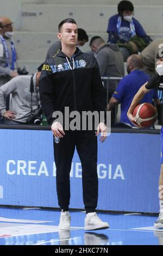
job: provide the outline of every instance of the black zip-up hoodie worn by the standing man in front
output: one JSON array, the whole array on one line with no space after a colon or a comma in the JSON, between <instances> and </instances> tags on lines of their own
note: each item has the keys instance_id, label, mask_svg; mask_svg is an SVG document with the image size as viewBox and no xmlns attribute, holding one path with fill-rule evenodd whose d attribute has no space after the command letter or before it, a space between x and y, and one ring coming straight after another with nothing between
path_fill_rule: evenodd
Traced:
<instances>
[{"instance_id":1,"label":"black zip-up hoodie worn by the standing man in front","mask_svg":"<svg viewBox=\"0 0 163 256\"><path fill-rule=\"evenodd\" d=\"M49 124L55 119L53 112L64 113L65 107L69 107L70 112L105 111L106 100L97 61L91 54L83 53L78 48L71 59L59 51L46 60L39 90Z\"/></svg>"}]
</instances>

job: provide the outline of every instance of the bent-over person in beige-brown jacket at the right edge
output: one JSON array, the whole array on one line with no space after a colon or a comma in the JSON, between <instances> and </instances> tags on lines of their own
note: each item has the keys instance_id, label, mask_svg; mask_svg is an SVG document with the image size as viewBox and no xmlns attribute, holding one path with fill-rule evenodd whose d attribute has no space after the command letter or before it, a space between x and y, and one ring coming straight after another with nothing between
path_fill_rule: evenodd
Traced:
<instances>
[{"instance_id":1,"label":"bent-over person in beige-brown jacket at the right edge","mask_svg":"<svg viewBox=\"0 0 163 256\"><path fill-rule=\"evenodd\" d=\"M159 48L159 45L163 49L163 38L158 38L151 42L142 52L142 60L143 60L143 70L149 74L154 75L155 74L155 68L156 68L156 62L158 59L156 59L156 54L161 51L161 54L163 51L161 48Z\"/></svg>"}]
</instances>

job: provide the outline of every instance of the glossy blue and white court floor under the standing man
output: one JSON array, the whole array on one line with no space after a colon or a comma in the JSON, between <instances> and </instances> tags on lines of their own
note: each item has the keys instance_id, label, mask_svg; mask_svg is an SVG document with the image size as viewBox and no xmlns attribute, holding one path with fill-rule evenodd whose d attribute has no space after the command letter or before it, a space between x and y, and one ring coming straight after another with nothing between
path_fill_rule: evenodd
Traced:
<instances>
[{"instance_id":1,"label":"glossy blue and white court floor under the standing man","mask_svg":"<svg viewBox=\"0 0 163 256\"><path fill-rule=\"evenodd\" d=\"M163 245L157 215L99 212L109 229L85 231L85 212L70 211L71 230L59 231L59 210L0 208L0 245Z\"/></svg>"}]
</instances>

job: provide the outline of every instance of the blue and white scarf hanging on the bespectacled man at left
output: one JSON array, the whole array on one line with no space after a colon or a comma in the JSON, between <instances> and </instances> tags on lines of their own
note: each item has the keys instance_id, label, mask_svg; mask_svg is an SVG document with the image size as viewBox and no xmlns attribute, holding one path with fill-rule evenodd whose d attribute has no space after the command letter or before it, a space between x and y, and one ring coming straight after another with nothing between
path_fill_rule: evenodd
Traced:
<instances>
[{"instance_id":1,"label":"blue and white scarf hanging on the bespectacled man at left","mask_svg":"<svg viewBox=\"0 0 163 256\"><path fill-rule=\"evenodd\" d=\"M9 68L9 49L8 49L8 45L6 43L6 41L4 40L3 36L0 35L3 46L4 46L4 50L5 50L5 56L6 56L6 64L5 66L7 68ZM12 64L11 64L11 70L15 70L16 69L16 51L15 51L15 46L14 46L14 42L11 40L10 41L11 44L11 52L12 52Z\"/></svg>"}]
</instances>

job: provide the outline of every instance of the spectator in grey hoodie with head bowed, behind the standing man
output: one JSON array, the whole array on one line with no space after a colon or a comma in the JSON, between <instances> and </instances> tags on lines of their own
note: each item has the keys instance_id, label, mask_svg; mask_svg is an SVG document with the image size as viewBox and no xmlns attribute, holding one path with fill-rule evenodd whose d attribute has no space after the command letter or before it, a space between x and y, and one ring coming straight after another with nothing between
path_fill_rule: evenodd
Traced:
<instances>
[{"instance_id":1,"label":"spectator in grey hoodie with head bowed, behind the standing man","mask_svg":"<svg viewBox=\"0 0 163 256\"><path fill-rule=\"evenodd\" d=\"M96 59L99 65L99 72L103 77L123 77L124 64L123 56L115 44L105 44L102 38L94 37L90 43L91 50L96 52ZM106 83L104 83L106 88ZM115 81L109 81L108 101L116 88ZM108 102L107 102L108 103ZM111 115L111 122L115 121L115 109Z\"/></svg>"}]
</instances>

